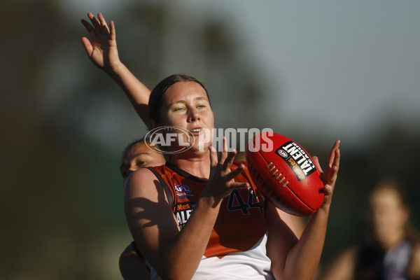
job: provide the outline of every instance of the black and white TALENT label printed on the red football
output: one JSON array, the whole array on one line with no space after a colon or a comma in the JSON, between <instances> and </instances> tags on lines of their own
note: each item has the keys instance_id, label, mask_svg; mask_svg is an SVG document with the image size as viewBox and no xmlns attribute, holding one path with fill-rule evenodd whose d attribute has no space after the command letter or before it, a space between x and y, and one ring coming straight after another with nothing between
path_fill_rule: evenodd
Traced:
<instances>
[{"instance_id":1,"label":"black and white TALENT label printed on the red football","mask_svg":"<svg viewBox=\"0 0 420 280\"><path fill-rule=\"evenodd\" d=\"M302 181L315 172L316 167L309 155L295 142L288 141L276 150L276 154L293 170L297 180ZM288 155L286 155L288 154ZM286 155L286 157L284 156Z\"/></svg>"}]
</instances>

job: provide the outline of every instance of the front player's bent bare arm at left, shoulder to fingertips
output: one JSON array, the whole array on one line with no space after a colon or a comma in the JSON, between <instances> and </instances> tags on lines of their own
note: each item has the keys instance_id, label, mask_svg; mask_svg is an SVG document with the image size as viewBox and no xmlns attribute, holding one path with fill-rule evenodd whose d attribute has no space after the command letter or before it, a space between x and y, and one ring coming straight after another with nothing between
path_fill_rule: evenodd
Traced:
<instances>
[{"instance_id":1,"label":"front player's bent bare arm at left, shoulder to fingertips","mask_svg":"<svg viewBox=\"0 0 420 280\"><path fill-rule=\"evenodd\" d=\"M211 174L182 230L169 207L162 186L148 169L133 172L125 185L125 214L132 236L162 279L190 279L204 255L222 200L247 183L233 179L244 165L230 171L235 153L223 151L218 163L211 150ZM185 265L185 264L188 265Z\"/></svg>"}]
</instances>

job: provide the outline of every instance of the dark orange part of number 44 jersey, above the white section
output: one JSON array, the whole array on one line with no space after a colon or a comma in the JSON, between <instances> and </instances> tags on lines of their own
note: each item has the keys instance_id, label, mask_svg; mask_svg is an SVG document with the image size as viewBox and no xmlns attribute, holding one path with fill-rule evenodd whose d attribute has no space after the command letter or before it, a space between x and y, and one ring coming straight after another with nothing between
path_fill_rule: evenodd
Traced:
<instances>
[{"instance_id":1,"label":"dark orange part of number 44 jersey, above the white section","mask_svg":"<svg viewBox=\"0 0 420 280\"><path fill-rule=\"evenodd\" d=\"M231 169L236 169L241 163L243 162L234 162ZM170 163L153 169L162 177L174 197L172 211L182 228L192 214L195 202L206 187L207 181L198 179ZM252 184L247 169L239 174L235 181ZM204 255L221 258L228 253L248 251L265 232L267 222L264 209L255 195L246 189L234 190L221 204Z\"/></svg>"}]
</instances>

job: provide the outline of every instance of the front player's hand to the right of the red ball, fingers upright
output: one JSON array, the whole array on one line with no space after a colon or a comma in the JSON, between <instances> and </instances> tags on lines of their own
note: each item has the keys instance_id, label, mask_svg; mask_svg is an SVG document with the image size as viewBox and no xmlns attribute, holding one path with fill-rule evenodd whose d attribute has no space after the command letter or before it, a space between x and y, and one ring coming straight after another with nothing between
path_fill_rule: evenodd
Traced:
<instances>
[{"instance_id":1,"label":"front player's hand to the right of the red ball, fingers upright","mask_svg":"<svg viewBox=\"0 0 420 280\"><path fill-rule=\"evenodd\" d=\"M316 168L321 172L323 183L324 183L324 201L322 207L330 207L332 193L334 192L335 181L337 181L337 173L339 169L339 143L340 141L335 141L334 146L332 146L330 156L328 157L328 164L325 167L325 172L322 171L321 165L319 165L319 160L317 157L314 157L314 162Z\"/></svg>"}]
</instances>

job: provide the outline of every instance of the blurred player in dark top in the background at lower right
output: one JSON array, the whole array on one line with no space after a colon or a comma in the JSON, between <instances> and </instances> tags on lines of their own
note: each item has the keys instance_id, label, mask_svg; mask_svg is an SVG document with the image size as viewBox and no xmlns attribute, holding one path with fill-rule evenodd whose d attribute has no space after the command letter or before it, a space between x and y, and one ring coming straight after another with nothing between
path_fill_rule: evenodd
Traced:
<instances>
[{"instance_id":1,"label":"blurred player in dark top in the background at lower right","mask_svg":"<svg viewBox=\"0 0 420 280\"><path fill-rule=\"evenodd\" d=\"M420 279L419 235L409 223L405 190L395 179L382 179L368 197L370 230L335 258L323 280Z\"/></svg>"}]
</instances>

